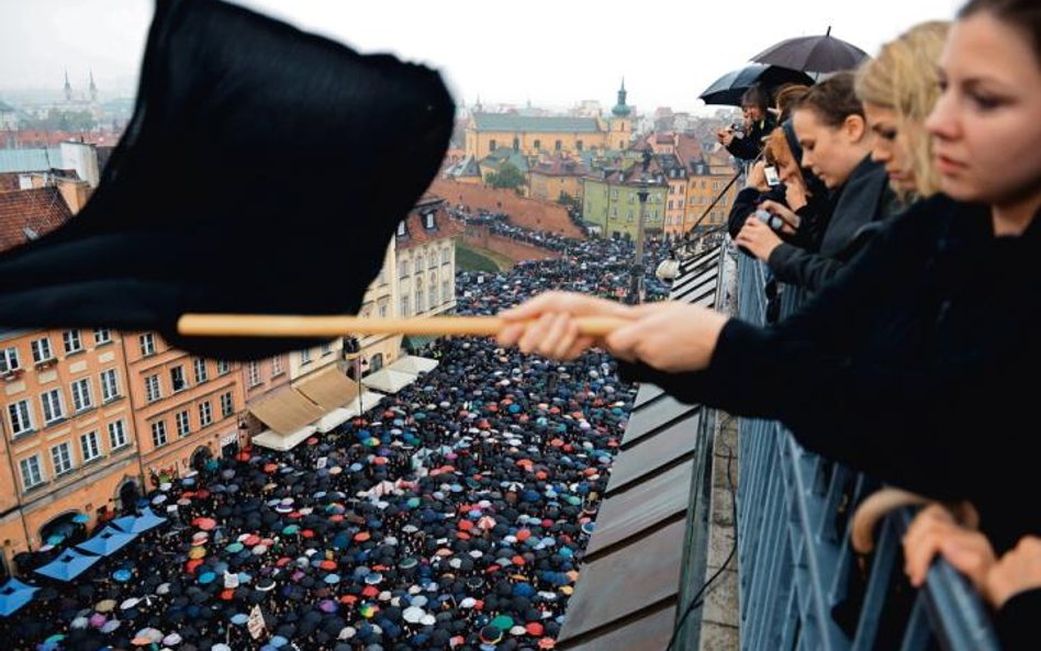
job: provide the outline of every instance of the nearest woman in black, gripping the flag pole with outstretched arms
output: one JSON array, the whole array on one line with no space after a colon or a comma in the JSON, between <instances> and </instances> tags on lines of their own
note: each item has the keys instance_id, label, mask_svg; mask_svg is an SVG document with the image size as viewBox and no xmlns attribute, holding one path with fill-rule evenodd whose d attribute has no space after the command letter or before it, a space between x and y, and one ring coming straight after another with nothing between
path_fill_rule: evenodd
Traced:
<instances>
[{"instance_id":1,"label":"nearest woman in black, gripping the flag pole with outstretched arms","mask_svg":"<svg viewBox=\"0 0 1041 651\"><path fill-rule=\"evenodd\" d=\"M784 423L806 448L936 500L967 500L998 553L1041 534L1027 453L1041 368L1041 7L972 0L926 127L943 193L889 220L791 316L551 293L506 311L502 345L569 359L603 339L625 378ZM1027 497L1027 498L1025 498Z\"/></svg>"}]
</instances>

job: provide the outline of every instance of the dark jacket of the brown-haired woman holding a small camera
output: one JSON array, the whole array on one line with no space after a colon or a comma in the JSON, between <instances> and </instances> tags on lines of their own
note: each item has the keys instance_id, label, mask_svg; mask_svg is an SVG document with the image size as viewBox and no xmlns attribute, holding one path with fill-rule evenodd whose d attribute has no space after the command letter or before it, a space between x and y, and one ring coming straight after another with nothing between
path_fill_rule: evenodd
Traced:
<instances>
[{"instance_id":1,"label":"dark jacket of the brown-haired woman holding a small camera","mask_svg":"<svg viewBox=\"0 0 1041 651\"><path fill-rule=\"evenodd\" d=\"M777 280L818 291L838 273L857 251L864 247L873 229L871 224L888 216L894 201L885 168L865 157L850 175L842 188L816 215L819 225L816 250L782 243L766 265ZM830 212L827 212L829 211Z\"/></svg>"}]
</instances>

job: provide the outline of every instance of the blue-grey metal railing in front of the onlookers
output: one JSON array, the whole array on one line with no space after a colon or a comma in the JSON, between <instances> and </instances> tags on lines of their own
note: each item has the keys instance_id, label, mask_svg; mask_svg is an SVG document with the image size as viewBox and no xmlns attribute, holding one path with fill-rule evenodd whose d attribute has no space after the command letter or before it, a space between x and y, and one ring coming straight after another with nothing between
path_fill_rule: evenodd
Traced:
<instances>
[{"instance_id":1,"label":"blue-grey metal railing in front of the onlookers","mask_svg":"<svg viewBox=\"0 0 1041 651\"><path fill-rule=\"evenodd\" d=\"M739 315L762 324L764 267L738 257ZM799 300L785 287L782 314ZM983 602L948 563L920 591L907 583L910 510L883 520L870 557L853 551L852 512L876 481L804 450L776 422L742 419L739 457L742 651L997 651Z\"/></svg>"}]
</instances>

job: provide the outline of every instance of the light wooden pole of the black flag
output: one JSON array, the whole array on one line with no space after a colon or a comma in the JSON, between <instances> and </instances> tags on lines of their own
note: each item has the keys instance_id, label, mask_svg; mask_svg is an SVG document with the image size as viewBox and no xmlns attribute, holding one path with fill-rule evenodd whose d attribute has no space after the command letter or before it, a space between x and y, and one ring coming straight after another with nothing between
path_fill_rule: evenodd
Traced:
<instances>
[{"instance_id":1,"label":"light wooden pole of the black flag","mask_svg":"<svg viewBox=\"0 0 1041 651\"><path fill-rule=\"evenodd\" d=\"M604 337L627 319L612 316L575 317L579 332ZM497 316L427 316L362 318L359 316L289 316L281 314L184 314L177 332L197 337L343 337L345 335L483 335L505 327Z\"/></svg>"}]
</instances>

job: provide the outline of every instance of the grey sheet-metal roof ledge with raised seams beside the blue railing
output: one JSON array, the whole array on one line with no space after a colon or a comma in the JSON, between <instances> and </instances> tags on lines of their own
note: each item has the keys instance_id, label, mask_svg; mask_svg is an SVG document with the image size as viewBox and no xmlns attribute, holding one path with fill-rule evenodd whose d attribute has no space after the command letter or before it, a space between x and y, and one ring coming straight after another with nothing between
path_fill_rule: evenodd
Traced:
<instances>
[{"instance_id":1,"label":"grey sheet-metal roof ledge with raised seams beside the blue railing","mask_svg":"<svg viewBox=\"0 0 1041 651\"><path fill-rule=\"evenodd\" d=\"M713 305L721 247L681 266L672 300ZM661 651L676 624L705 411L652 384L636 396L577 590L557 640L563 651ZM685 605L685 604L684 604Z\"/></svg>"}]
</instances>

